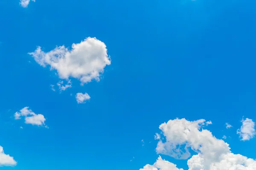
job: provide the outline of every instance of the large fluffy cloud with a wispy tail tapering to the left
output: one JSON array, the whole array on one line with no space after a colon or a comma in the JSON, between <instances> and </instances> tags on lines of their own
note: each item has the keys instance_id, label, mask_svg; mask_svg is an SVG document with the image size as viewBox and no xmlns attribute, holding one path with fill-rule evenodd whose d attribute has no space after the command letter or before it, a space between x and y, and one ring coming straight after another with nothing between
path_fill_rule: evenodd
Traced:
<instances>
[{"instance_id":1,"label":"large fluffy cloud with a wispy tail tapering to the left","mask_svg":"<svg viewBox=\"0 0 256 170\"><path fill-rule=\"evenodd\" d=\"M44 52L38 47L29 54L41 66L49 65L56 70L61 79L74 77L80 79L82 84L93 79L99 81L105 66L111 64L105 43L91 37L73 44L71 50L63 45Z\"/></svg>"}]
</instances>

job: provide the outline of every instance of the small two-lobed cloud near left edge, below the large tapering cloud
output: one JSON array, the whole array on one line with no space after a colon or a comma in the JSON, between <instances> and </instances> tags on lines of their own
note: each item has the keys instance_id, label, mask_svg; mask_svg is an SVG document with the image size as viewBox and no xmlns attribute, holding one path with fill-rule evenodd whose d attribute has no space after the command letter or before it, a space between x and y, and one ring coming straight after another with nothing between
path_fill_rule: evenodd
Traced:
<instances>
[{"instance_id":1,"label":"small two-lobed cloud near left edge, below the large tapering cloud","mask_svg":"<svg viewBox=\"0 0 256 170\"><path fill-rule=\"evenodd\" d=\"M32 110L28 108L29 107L25 107L21 109L19 112L16 112L14 114L15 119L21 119L21 117L24 117L26 124L38 125L38 126L45 125L44 122L46 119L44 118L44 115L35 114L34 112L32 112Z\"/></svg>"}]
</instances>

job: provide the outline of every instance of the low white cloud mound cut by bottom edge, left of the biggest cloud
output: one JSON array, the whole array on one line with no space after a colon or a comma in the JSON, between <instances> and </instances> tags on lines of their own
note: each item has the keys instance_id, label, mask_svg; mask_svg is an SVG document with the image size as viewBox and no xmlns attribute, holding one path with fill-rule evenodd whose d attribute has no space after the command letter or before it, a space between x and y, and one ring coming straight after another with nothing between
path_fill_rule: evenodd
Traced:
<instances>
[{"instance_id":1,"label":"low white cloud mound cut by bottom edge, left of the biggest cloud","mask_svg":"<svg viewBox=\"0 0 256 170\"><path fill-rule=\"evenodd\" d=\"M175 164L169 161L166 161L162 159L161 156L159 156L157 161L153 165L147 164L143 167L143 169L140 169L140 170L183 170L183 169L177 168Z\"/></svg>"}]
</instances>

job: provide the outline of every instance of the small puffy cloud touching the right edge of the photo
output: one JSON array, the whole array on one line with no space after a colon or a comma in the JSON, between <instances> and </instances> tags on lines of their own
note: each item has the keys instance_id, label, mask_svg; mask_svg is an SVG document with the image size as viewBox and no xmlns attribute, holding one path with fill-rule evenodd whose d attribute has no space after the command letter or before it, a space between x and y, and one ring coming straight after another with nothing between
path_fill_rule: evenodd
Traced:
<instances>
[{"instance_id":1,"label":"small puffy cloud touching the right edge of the photo","mask_svg":"<svg viewBox=\"0 0 256 170\"><path fill-rule=\"evenodd\" d=\"M255 123L252 119L246 118L245 120L242 119L242 126L240 129L236 131L237 134L239 134L239 137L242 141L247 141L252 139L255 136Z\"/></svg>"}]
</instances>

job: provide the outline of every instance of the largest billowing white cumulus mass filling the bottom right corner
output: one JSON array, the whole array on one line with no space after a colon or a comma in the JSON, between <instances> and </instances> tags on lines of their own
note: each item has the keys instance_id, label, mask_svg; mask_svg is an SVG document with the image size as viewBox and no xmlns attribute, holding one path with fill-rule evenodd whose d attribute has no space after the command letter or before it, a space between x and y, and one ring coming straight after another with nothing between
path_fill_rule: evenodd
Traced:
<instances>
[{"instance_id":1,"label":"largest billowing white cumulus mass filling the bottom right corner","mask_svg":"<svg viewBox=\"0 0 256 170\"><path fill-rule=\"evenodd\" d=\"M189 170L256 170L256 160L231 153L229 144L215 138L209 130L202 128L203 125L204 119L174 119L161 124L159 128L165 136L165 142L159 140L157 153L187 159L190 156L189 149L193 150L197 154L187 161ZM143 169L161 170L155 164L146 165ZM172 168L165 167L163 170Z\"/></svg>"}]
</instances>

